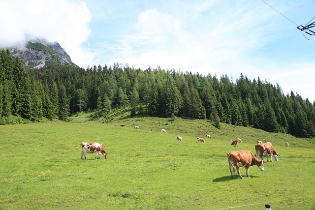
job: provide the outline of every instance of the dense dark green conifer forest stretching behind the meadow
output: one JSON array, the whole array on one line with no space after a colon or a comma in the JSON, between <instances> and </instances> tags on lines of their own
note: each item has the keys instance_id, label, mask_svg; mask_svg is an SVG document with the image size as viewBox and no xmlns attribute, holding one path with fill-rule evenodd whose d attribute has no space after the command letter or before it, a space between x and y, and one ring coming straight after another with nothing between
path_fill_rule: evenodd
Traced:
<instances>
[{"instance_id":1,"label":"dense dark green conifer forest stretching behind the meadow","mask_svg":"<svg viewBox=\"0 0 315 210\"><path fill-rule=\"evenodd\" d=\"M19 58L0 51L0 123L67 120L77 112L94 110L110 116L114 107L128 107L131 115L208 119L252 126L268 132L315 136L315 102L279 84L243 74L201 75L148 67L59 65L47 61L26 71Z\"/></svg>"}]
</instances>

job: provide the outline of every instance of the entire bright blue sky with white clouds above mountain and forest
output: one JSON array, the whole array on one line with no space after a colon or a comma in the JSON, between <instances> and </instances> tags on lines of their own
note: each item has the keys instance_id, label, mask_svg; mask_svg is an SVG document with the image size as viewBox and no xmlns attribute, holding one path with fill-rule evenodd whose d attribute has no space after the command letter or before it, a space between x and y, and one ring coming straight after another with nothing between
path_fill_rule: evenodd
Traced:
<instances>
[{"instance_id":1,"label":"entire bright blue sky with white clouds above mountain and forest","mask_svg":"<svg viewBox=\"0 0 315 210\"><path fill-rule=\"evenodd\" d=\"M0 47L45 38L83 68L243 74L314 102L315 36L296 28L314 17L315 0L0 0Z\"/></svg>"}]
</instances>

